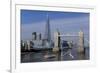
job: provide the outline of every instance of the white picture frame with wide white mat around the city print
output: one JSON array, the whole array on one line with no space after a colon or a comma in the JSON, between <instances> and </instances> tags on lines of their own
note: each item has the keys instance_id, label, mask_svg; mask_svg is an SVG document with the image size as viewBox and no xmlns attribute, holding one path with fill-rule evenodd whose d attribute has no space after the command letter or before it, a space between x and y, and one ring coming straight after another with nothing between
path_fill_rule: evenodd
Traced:
<instances>
[{"instance_id":1,"label":"white picture frame with wide white mat around the city print","mask_svg":"<svg viewBox=\"0 0 100 73\"><path fill-rule=\"evenodd\" d=\"M64 61L44 63L20 63L20 9L74 11L90 13L90 60ZM11 2L11 73L35 72L53 69L79 68L95 66L95 7L70 4L45 4L39 2L12 1Z\"/></svg>"}]
</instances>

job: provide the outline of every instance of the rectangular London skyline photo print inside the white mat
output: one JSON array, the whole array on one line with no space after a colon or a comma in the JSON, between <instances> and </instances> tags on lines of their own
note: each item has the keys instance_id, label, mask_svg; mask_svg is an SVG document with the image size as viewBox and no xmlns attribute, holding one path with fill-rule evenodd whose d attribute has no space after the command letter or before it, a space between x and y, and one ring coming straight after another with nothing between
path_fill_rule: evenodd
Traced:
<instances>
[{"instance_id":1,"label":"rectangular London skyline photo print inside the white mat","mask_svg":"<svg viewBox=\"0 0 100 73\"><path fill-rule=\"evenodd\" d=\"M89 13L21 10L21 63L89 60Z\"/></svg>"}]
</instances>

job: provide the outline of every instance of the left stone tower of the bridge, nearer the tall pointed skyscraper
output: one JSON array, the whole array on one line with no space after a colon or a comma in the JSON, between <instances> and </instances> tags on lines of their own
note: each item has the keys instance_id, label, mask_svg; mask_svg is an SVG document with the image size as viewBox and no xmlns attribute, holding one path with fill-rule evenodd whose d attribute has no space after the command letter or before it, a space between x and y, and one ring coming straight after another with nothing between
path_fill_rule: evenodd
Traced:
<instances>
[{"instance_id":1,"label":"left stone tower of the bridge, nearer the tall pointed skyscraper","mask_svg":"<svg viewBox=\"0 0 100 73\"><path fill-rule=\"evenodd\" d=\"M54 32L54 48L53 51L57 52L60 49L60 33L59 32Z\"/></svg>"}]
</instances>

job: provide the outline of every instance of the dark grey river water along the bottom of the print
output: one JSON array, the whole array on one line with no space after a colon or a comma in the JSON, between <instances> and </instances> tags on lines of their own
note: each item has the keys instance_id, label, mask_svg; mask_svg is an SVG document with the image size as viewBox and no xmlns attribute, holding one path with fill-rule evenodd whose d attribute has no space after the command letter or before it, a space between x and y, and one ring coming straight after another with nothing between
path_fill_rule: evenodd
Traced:
<instances>
[{"instance_id":1,"label":"dark grey river water along the bottom of the print","mask_svg":"<svg viewBox=\"0 0 100 73\"><path fill-rule=\"evenodd\" d=\"M85 53L77 53L76 49L62 50L59 52L21 52L21 63L27 62L48 62L48 61L68 61L68 60L88 60L89 49Z\"/></svg>"}]
</instances>

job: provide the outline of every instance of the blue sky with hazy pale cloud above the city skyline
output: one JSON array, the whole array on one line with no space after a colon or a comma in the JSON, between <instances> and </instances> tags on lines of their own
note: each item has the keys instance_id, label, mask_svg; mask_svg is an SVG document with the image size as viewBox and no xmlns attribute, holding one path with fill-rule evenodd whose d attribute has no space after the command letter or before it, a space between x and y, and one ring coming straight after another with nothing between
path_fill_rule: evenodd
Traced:
<instances>
[{"instance_id":1,"label":"blue sky with hazy pale cloud above the city skyline","mask_svg":"<svg viewBox=\"0 0 100 73\"><path fill-rule=\"evenodd\" d=\"M56 29L61 34L77 33L82 29L89 36L89 13L21 10L21 39L30 40L35 31L44 36L47 14L52 36Z\"/></svg>"}]
</instances>

